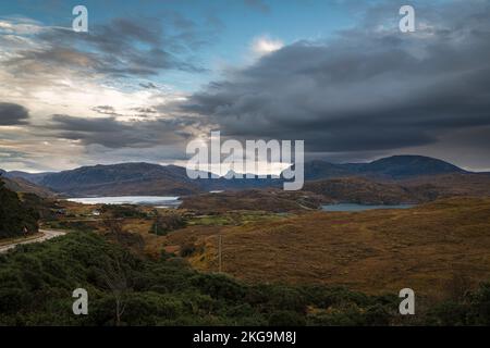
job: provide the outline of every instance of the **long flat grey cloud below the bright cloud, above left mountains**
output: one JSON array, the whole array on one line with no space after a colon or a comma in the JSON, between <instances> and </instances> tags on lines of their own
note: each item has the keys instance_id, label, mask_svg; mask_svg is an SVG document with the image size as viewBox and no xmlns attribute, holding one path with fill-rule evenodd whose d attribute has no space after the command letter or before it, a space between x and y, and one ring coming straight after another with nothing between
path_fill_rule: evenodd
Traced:
<instances>
[{"instance_id":1,"label":"long flat grey cloud below the bright cloud, above left mountains","mask_svg":"<svg viewBox=\"0 0 490 348\"><path fill-rule=\"evenodd\" d=\"M57 138L119 149L183 144L191 137L185 127L194 123L187 117L122 122L115 117L52 115L46 128L53 130L52 136Z\"/></svg>"}]
</instances>

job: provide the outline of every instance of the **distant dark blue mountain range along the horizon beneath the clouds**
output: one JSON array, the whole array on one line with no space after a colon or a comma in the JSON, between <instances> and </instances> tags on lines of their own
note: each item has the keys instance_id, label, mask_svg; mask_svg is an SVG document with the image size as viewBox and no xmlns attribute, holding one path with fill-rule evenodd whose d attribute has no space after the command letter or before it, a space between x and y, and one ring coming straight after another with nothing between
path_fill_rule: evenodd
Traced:
<instances>
[{"instance_id":1,"label":"distant dark blue mountain range along the horizon beneath the clouds","mask_svg":"<svg viewBox=\"0 0 490 348\"><path fill-rule=\"evenodd\" d=\"M82 166L58 173L3 172L8 179L40 186L64 196L187 196L210 190L279 187L282 178L191 179L185 167L151 163L121 163ZM394 156L369 163L334 164L326 161L305 163L305 181L364 177L376 182L417 182L441 175L479 175L442 160L421 156ZM488 175L485 175L485 179ZM480 177L480 176L478 176ZM320 184L308 185L321 187ZM358 183L357 183L358 186Z\"/></svg>"}]
</instances>

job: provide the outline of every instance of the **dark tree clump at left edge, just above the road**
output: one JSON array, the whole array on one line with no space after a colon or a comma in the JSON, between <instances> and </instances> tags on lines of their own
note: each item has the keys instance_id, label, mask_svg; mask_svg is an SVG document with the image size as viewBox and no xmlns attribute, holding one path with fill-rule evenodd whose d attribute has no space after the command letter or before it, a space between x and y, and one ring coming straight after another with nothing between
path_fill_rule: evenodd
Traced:
<instances>
[{"instance_id":1,"label":"dark tree clump at left edge, just above the road","mask_svg":"<svg viewBox=\"0 0 490 348\"><path fill-rule=\"evenodd\" d=\"M21 236L24 227L29 233L37 232L37 211L7 189L0 178L0 238Z\"/></svg>"}]
</instances>

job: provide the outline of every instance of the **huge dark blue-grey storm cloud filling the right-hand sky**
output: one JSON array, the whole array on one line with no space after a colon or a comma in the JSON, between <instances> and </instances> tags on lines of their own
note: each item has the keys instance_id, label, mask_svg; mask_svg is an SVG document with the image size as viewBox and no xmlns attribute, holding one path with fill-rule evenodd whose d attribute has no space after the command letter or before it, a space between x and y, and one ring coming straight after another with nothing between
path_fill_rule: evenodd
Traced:
<instances>
[{"instance_id":1,"label":"huge dark blue-grey storm cloud filling the right-hand sky","mask_svg":"<svg viewBox=\"0 0 490 348\"><path fill-rule=\"evenodd\" d=\"M490 125L490 2L417 8L414 34L397 29L399 8L377 7L333 40L286 46L181 109L228 136L305 139L315 152L428 146Z\"/></svg>"}]
</instances>

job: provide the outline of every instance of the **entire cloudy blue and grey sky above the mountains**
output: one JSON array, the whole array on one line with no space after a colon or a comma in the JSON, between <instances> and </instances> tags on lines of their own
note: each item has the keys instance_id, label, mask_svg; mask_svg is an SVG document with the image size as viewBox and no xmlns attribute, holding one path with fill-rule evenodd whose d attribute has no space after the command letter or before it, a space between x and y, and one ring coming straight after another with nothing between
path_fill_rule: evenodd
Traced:
<instances>
[{"instance_id":1,"label":"entire cloudy blue and grey sky above the mountains","mask_svg":"<svg viewBox=\"0 0 490 348\"><path fill-rule=\"evenodd\" d=\"M2 1L0 169L185 164L220 130L490 171L489 38L490 0Z\"/></svg>"}]
</instances>

